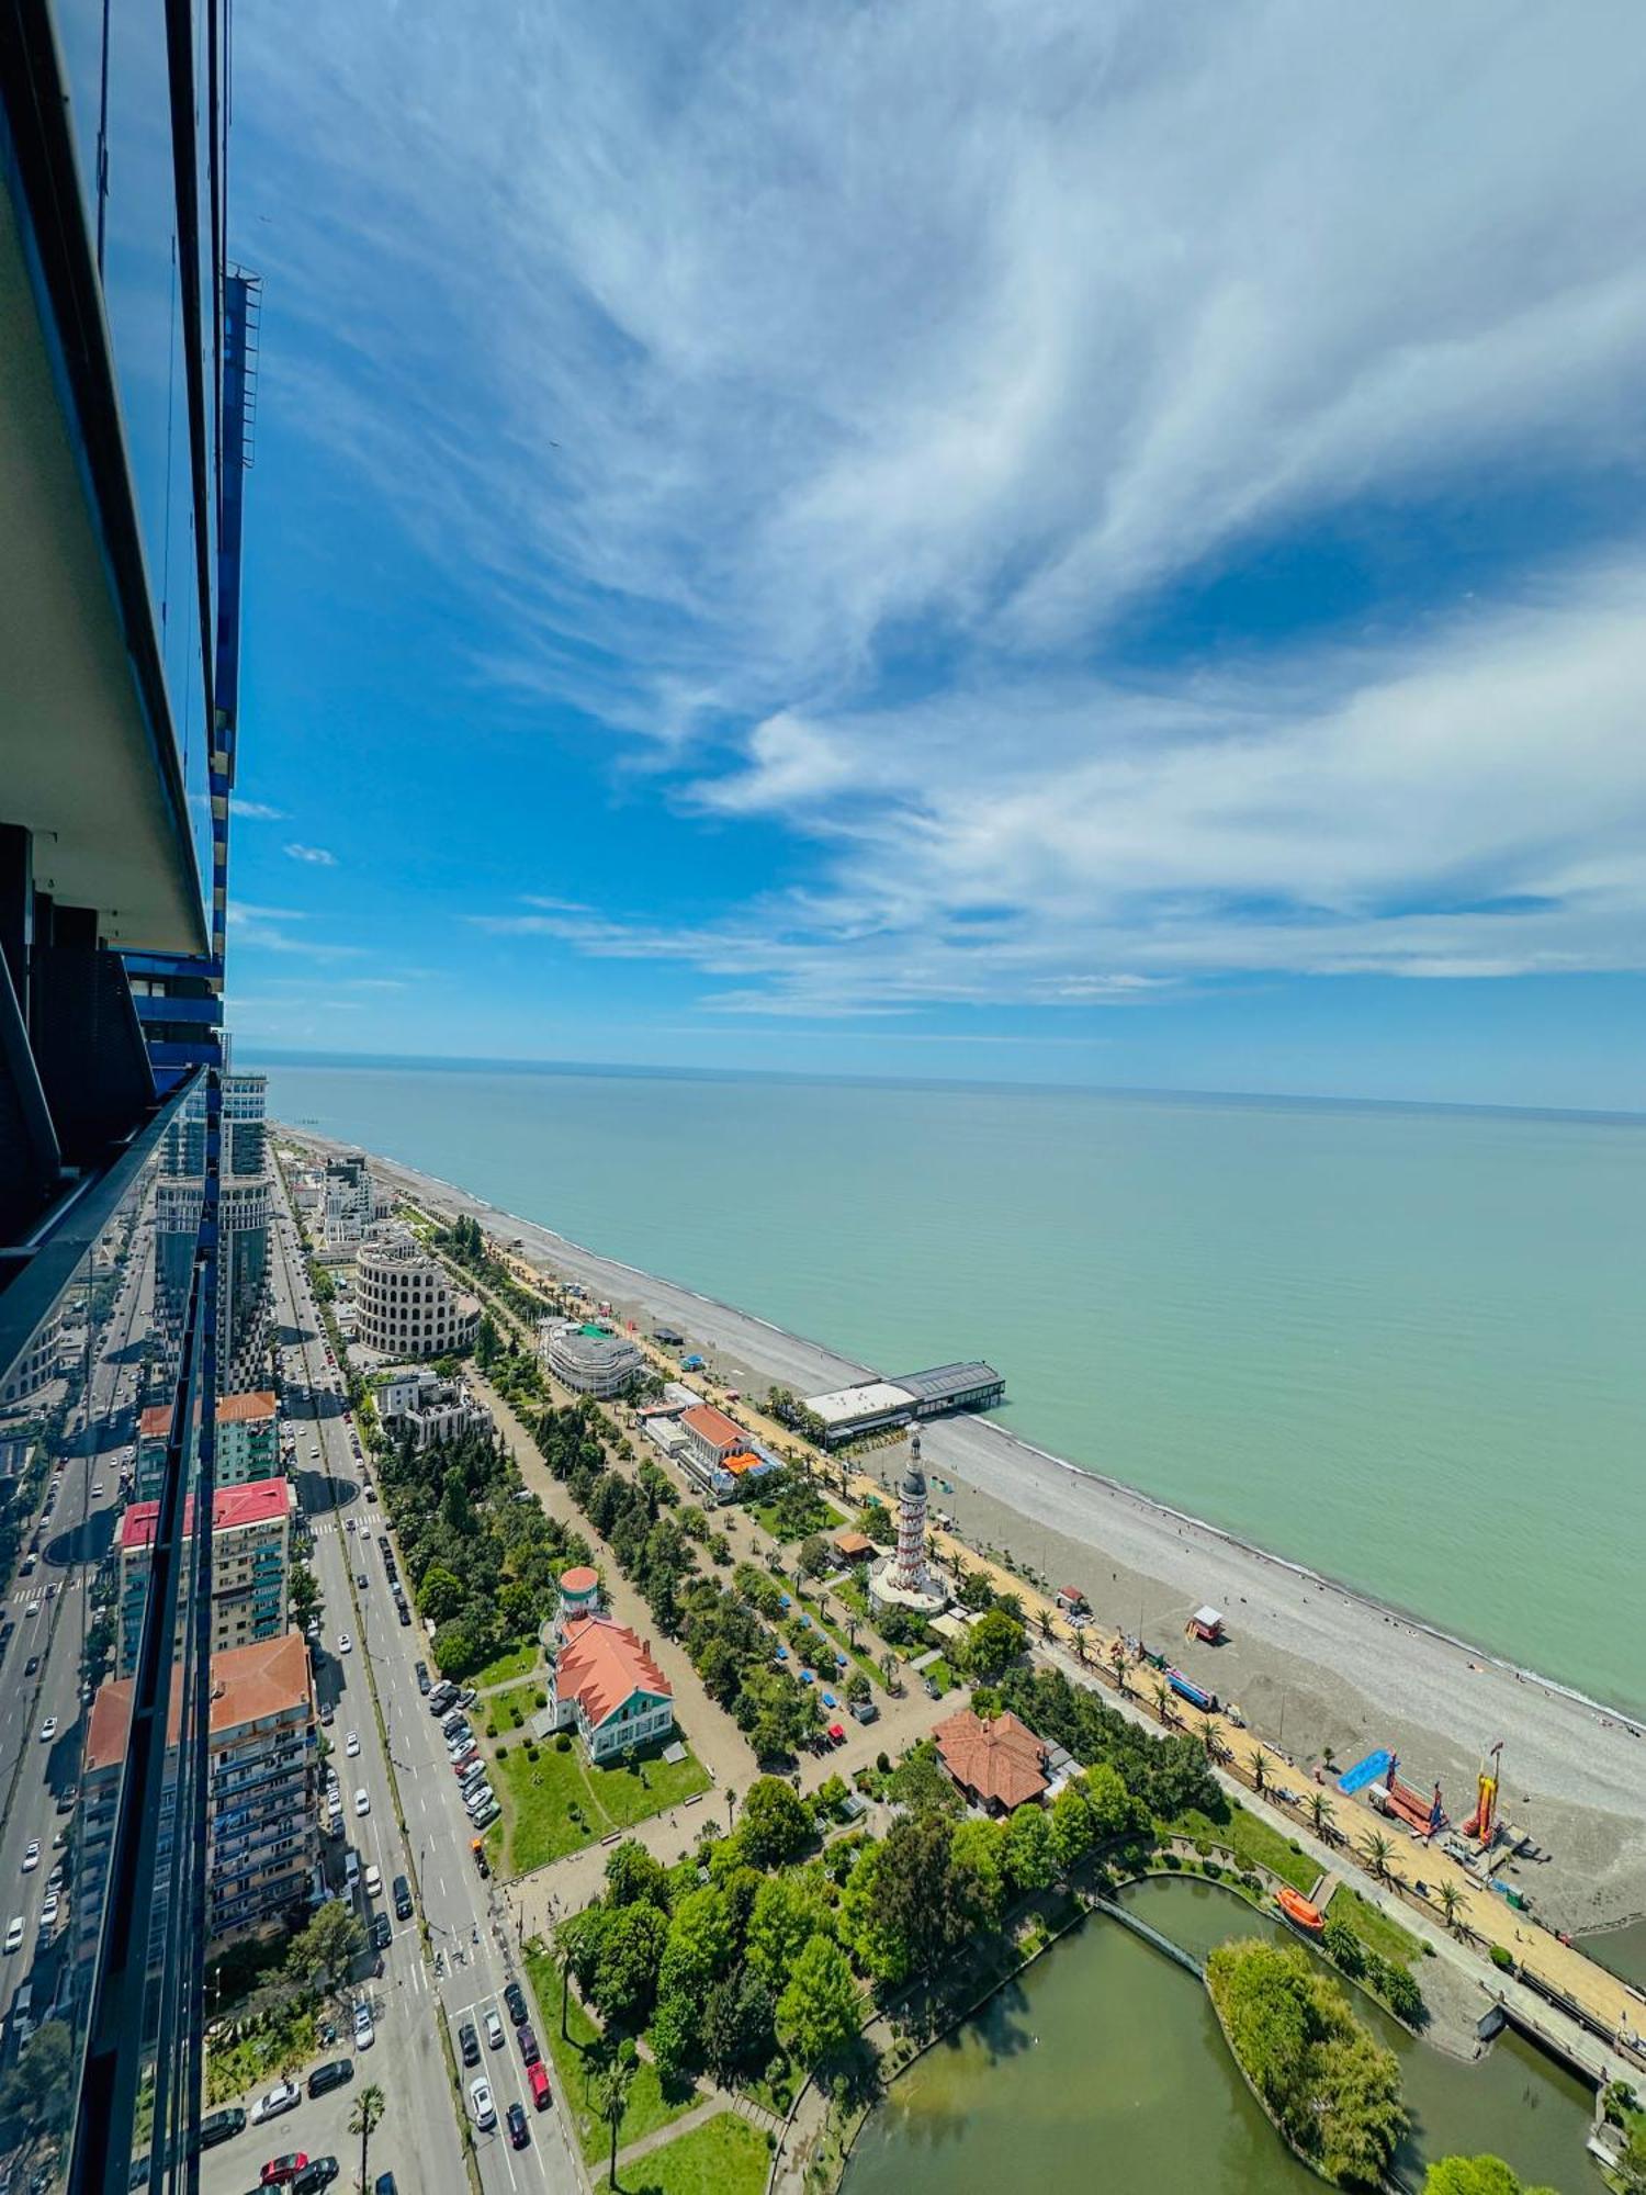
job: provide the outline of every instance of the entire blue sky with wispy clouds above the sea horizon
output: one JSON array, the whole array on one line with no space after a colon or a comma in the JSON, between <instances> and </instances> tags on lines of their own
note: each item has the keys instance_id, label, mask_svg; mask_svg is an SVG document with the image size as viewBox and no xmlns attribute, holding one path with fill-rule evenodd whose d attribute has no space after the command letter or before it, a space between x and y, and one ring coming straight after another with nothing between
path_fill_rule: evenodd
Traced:
<instances>
[{"instance_id":1,"label":"entire blue sky with wispy clouds above the sea horizon","mask_svg":"<svg viewBox=\"0 0 1646 2195\"><path fill-rule=\"evenodd\" d=\"M1646 1108L1631 4L233 66L244 1051Z\"/></svg>"}]
</instances>

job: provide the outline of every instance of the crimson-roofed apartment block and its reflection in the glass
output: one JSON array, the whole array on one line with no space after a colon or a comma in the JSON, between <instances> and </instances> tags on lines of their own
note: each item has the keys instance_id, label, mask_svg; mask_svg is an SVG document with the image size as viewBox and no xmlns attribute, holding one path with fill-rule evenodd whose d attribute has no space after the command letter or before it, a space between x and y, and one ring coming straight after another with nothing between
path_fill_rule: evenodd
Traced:
<instances>
[{"instance_id":1,"label":"crimson-roofed apartment block and its reflection in the glass","mask_svg":"<svg viewBox=\"0 0 1646 2195\"><path fill-rule=\"evenodd\" d=\"M121 1519L119 1651L121 1677L136 1670L158 1501L132 1501ZM193 1539L193 1499L182 1536ZM285 1631L292 1578L296 1488L290 1479L219 1486L211 1515L211 1651L250 1646Z\"/></svg>"}]
</instances>

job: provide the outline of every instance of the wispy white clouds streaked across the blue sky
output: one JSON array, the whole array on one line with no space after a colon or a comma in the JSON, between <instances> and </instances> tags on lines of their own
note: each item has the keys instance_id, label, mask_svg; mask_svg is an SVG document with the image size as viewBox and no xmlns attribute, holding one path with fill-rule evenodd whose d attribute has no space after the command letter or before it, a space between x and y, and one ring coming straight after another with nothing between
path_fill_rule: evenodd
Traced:
<instances>
[{"instance_id":1,"label":"wispy white clouds streaked across the blue sky","mask_svg":"<svg viewBox=\"0 0 1646 2195\"><path fill-rule=\"evenodd\" d=\"M1422 555L1484 474L1639 483L1624 0L309 33L237 22L268 404L485 601L476 678L643 735L683 828L801 836L724 920L494 933L819 1014L1646 964L1622 551L1527 551L1488 606L1438 564L1418 637L1106 656L1150 588L1367 498Z\"/></svg>"}]
</instances>

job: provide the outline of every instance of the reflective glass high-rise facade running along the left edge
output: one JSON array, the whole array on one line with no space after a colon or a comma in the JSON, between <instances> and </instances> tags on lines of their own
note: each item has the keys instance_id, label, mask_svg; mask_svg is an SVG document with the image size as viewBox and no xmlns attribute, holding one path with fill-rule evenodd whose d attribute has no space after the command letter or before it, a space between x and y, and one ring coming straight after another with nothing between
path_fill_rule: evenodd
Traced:
<instances>
[{"instance_id":1,"label":"reflective glass high-rise facade running along the left edge","mask_svg":"<svg viewBox=\"0 0 1646 2195\"><path fill-rule=\"evenodd\" d=\"M213 1609L184 1523L215 1394L268 1359L261 1089L222 1040L257 351L226 55L228 0L0 0L4 2169L99 2195L198 2173Z\"/></svg>"}]
</instances>

